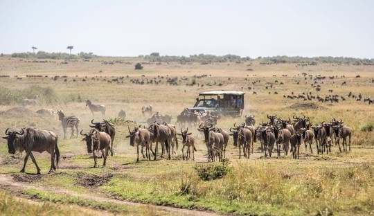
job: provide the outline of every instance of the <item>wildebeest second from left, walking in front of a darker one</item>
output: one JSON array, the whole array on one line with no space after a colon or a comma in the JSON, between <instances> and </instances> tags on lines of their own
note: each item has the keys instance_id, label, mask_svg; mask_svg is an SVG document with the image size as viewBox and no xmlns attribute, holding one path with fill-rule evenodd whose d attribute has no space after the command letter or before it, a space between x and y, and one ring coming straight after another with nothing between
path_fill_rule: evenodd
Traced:
<instances>
[{"instance_id":1,"label":"wildebeest second from left, walking in front of a darker one","mask_svg":"<svg viewBox=\"0 0 374 216\"><path fill-rule=\"evenodd\" d=\"M101 155L103 155L103 166L105 166L109 154L110 143L112 143L109 134L99 132L98 129L91 129L86 134L82 134L82 131L80 131L80 134L84 136L82 141L86 141L87 152L94 155L94 168L96 168L97 165L97 155L99 151L101 152Z\"/></svg>"}]
</instances>

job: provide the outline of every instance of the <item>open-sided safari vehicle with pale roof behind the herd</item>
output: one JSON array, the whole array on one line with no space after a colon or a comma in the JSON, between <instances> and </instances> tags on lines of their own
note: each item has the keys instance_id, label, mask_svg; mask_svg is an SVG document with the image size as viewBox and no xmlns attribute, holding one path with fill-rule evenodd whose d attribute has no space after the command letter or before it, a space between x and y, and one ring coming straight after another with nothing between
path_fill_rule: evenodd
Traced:
<instances>
[{"instance_id":1,"label":"open-sided safari vehicle with pale roof behind the herd","mask_svg":"<svg viewBox=\"0 0 374 216\"><path fill-rule=\"evenodd\" d=\"M244 92L242 91L205 91L199 93L190 111L204 113L211 111L223 116L242 116Z\"/></svg>"}]
</instances>

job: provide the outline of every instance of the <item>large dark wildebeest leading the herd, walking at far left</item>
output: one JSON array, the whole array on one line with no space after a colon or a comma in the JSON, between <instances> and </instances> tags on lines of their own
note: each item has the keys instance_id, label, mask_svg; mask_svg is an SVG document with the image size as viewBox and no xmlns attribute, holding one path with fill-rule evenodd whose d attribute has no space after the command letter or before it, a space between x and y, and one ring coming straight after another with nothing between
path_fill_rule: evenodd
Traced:
<instances>
[{"instance_id":1,"label":"large dark wildebeest leading the herd, walking at far left","mask_svg":"<svg viewBox=\"0 0 374 216\"><path fill-rule=\"evenodd\" d=\"M5 134L7 136L3 138L8 141L9 154L15 154L16 152L23 151L26 152L24 167L22 168L21 172L25 172L28 156L30 156L37 168L37 174L40 174L40 168L37 165L32 152L42 153L44 151L51 154L51 169L48 173L56 170L58 162L60 161L60 151L57 147L57 135L55 133L43 129L26 127L21 129L20 132L12 132L9 131L9 129L6 129Z\"/></svg>"}]
</instances>

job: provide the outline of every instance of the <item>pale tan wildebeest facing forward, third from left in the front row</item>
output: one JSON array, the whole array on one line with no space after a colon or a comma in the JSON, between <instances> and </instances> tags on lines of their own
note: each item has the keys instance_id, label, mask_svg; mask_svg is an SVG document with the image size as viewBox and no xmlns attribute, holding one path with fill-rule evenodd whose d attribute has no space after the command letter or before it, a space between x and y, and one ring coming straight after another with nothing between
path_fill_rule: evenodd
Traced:
<instances>
[{"instance_id":1,"label":"pale tan wildebeest facing forward, third from left in the front row","mask_svg":"<svg viewBox=\"0 0 374 216\"><path fill-rule=\"evenodd\" d=\"M134 127L134 130L132 132L130 131L130 127L128 127L128 129L129 136L126 136L126 138L130 137L131 146L134 146L134 144L136 143L136 162L139 162L139 145L141 145L141 154L143 154L143 158L150 160L150 144L152 142L152 134L150 133L150 131L141 127ZM145 156L143 153L143 147L145 147Z\"/></svg>"}]
</instances>

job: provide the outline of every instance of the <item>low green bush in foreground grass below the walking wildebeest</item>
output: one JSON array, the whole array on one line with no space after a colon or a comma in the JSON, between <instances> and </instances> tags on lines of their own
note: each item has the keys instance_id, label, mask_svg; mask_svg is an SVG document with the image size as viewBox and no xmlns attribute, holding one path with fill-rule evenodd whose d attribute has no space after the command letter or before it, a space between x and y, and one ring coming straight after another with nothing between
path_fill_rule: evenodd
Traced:
<instances>
[{"instance_id":1,"label":"low green bush in foreground grass below the walking wildebeest","mask_svg":"<svg viewBox=\"0 0 374 216\"><path fill-rule=\"evenodd\" d=\"M224 159L222 163L218 164L209 164L209 165L197 165L195 166L195 170L197 175L203 181L211 181L214 179L222 179L226 176L227 172L229 171L229 160Z\"/></svg>"}]
</instances>

